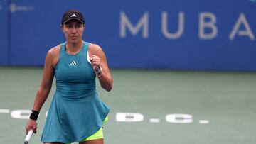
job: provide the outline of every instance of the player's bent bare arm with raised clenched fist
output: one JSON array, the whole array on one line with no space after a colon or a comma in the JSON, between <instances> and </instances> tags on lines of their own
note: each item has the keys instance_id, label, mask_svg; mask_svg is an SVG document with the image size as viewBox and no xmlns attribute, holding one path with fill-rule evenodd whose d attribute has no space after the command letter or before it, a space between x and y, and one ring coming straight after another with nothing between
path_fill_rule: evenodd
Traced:
<instances>
[{"instance_id":1,"label":"player's bent bare arm with raised clenched fist","mask_svg":"<svg viewBox=\"0 0 256 144\"><path fill-rule=\"evenodd\" d=\"M103 52L102 48L100 48L99 45L90 44L90 60L92 62L92 68L95 72L99 70L99 66L102 69L102 74L100 77L98 77L100 81L100 86L110 91L112 89L112 75L110 74L109 67L107 66L107 58L105 56L105 53Z\"/></svg>"}]
</instances>

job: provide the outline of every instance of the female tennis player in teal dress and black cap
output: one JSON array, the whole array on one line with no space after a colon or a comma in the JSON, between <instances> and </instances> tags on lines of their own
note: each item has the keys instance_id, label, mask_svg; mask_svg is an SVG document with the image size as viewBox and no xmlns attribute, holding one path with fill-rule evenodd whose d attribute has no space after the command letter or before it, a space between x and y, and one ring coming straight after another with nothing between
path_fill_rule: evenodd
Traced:
<instances>
[{"instance_id":1,"label":"female tennis player in teal dress and black cap","mask_svg":"<svg viewBox=\"0 0 256 144\"><path fill-rule=\"evenodd\" d=\"M85 20L82 13L69 10L63 14L65 43L51 48L43 68L43 79L36 94L26 133L36 133L36 120L51 89L53 77L56 91L51 101L41 141L45 144L103 144L102 124L110 109L96 92L95 77L103 89L112 89L112 75L105 53L99 45L82 40Z\"/></svg>"}]
</instances>

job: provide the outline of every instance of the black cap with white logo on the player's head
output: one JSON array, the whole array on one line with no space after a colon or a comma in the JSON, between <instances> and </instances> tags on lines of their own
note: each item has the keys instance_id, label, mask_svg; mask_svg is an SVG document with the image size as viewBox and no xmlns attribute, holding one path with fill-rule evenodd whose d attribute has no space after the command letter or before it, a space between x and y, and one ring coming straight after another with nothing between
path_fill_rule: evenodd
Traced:
<instances>
[{"instance_id":1,"label":"black cap with white logo on the player's head","mask_svg":"<svg viewBox=\"0 0 256 144\"><path fill-rule=\"evenodd\" d=\"M61 24L63 25L67 21L70 21L72 19L78 20L81 23L85 23L85 19L82 16L82 13L78 10L68 10L63 14L63 18L61 21Z\"/></svg>"}]
</instances>

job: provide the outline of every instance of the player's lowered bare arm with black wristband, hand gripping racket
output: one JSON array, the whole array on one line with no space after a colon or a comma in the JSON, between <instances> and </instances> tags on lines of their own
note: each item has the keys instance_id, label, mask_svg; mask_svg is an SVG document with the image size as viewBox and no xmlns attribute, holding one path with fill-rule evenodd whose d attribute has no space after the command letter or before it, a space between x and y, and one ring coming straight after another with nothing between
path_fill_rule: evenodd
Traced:
<instances>
[{"instance_id":1,"label":"player's lowered bare arm with black wristband, hand gripping racket","mask_svg":"<svg viewBox=\"0 0 256 144\"><path fill-rule=\"evenodd\" d=\"M38 90L36 93L36 99L33 104L34 111L39 112L41 110L43 103L46 101L48 94L50 93L50 89L51 89L51 86L53 83L53 77L54 77L54 67L53 67L54 52L53 51L54 51L53 49L49 50L46 55L46 61L43 67L43 78L40 86L38 87ZM31 129L34 131L34 133L36 133L36 121L29 119L26 125L26 133L28 133L28 131L30 131Z\"/></svg>"}]
</instances>

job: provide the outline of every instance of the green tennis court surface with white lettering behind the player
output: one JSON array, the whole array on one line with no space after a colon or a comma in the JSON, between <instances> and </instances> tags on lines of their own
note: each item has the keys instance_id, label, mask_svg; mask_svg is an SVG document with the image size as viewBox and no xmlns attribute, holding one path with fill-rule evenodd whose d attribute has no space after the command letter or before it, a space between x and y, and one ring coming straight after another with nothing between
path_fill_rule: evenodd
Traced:
<instances>
[{"instance_id":1,"label":"green tennis court surface with white lettering behind the player","mask_svg":"<svg viewBox=\"0 0 256 144\"><path fill-rule=\"evenodd\" d=\"M97 85L111 107L106 144L254 144L256 73L117 70L111 92ZM23 143L41 67L0 67L0 143ZM38 118L40 143L55 82Z\"/></svg>"}]
</instances>

